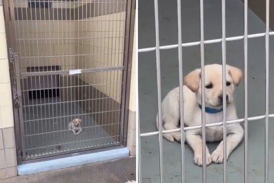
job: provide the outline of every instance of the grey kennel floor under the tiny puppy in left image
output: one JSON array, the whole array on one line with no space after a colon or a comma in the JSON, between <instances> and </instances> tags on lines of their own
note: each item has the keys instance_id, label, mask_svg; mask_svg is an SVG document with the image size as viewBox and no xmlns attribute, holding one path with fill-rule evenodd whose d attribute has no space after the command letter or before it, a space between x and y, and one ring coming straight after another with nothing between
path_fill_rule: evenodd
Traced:
<instances>
[{"instance_id":1,"label":"grey kennel floor under the tiny puppy in left image","mask_svg":"<svg viewBox=\"0 0 274 183\"><path fill-rule=\"evenodd\" d=\"M59 98L52 98L52 103L56 104L35 105L43 102L41 99L30 102L33 106L23 110L28 121L24 126L27 159L81 148L119 144L79 106L78 102L61 103ZM75 118L82 119L83 131L79 135L68 131L68 122Z\"/></svg>"}]
</instances>

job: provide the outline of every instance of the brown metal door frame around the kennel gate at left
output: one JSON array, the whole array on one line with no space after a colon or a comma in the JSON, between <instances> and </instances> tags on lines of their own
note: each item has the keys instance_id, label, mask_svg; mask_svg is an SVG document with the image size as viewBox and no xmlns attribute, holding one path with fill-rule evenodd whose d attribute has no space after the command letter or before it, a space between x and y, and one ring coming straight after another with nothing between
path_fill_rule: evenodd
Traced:
<instances>
[{"instance_id":1,"label":"brown metal door frame around the kennel gate at left","mask_svg":"<svg viewBox=\"0 0 274 183\"><path fill-rule=\"evenodd\" d=\"M124 35L124 64L122 70L122 86L121 86L121 113L120 113L120 144L112 146L100 146L93 149L81 149L70 151L67 153L55 153L47 157L39 157L35 160L24 160L25 155L25 141L23 139L23 108L21 97L21 83L19 73L19 61L17 59L17 44L15 37L15 17L14 17L14 1L3 0L3 12L6 25L7 48L9 52L9 68L10 68L10 83L12 86L12 100L13 100L13 115L14 115L14 130L15 142L17 148L17 162L25 164L28 162L39 162L41 160L52 160L61 157L69 157L71 155L81 155L87 153L94 153L97 151L106 151L109 149L121 148L126 146L127 127L128 127L128 106L130 95L130 73L133 51L133 33L135 22L135 0L128 0L126 5L126 25ZM87 71L90 69L87 69ZM95 68L96 70L96 68ZM15 71L15 72L14 72Z\"/></svg>"}]
</instances>

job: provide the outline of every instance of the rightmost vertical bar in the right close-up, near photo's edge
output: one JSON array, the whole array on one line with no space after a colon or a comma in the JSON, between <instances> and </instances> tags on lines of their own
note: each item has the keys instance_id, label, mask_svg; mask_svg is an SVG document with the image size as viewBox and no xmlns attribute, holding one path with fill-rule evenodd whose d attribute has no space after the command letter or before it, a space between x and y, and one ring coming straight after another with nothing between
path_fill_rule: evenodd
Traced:
<instances>
[{"instance_id":1,"label":"rightmost vertical bar in the right close-up, near photo's edge","mask_svg":"<svg viewBox=\"0 0 274 183\"><path fill-rule=\"evenodd\" d=\"M269 0L266 0L266 144L264 182L268 183L268 89L269 89Z\"/></svg>"}]
</instances>

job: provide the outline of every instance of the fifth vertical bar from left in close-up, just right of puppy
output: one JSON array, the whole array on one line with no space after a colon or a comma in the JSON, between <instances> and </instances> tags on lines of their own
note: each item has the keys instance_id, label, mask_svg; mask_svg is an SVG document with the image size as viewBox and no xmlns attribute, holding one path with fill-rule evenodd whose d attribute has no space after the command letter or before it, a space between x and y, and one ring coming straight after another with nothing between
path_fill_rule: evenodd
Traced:
<instances>
[{"instance_id":1,"label":"fifth vertical bar from left in close-up, just right of puppy","mask_svg":"<svg viewBox=\"0 0 274 183\"><path fill-rule=\"evenodd\" d=\"M247 90L247 60L248 60L248 0L244 0L244 183L248 183L248 90Z\"/></svg>"}]
</instances>

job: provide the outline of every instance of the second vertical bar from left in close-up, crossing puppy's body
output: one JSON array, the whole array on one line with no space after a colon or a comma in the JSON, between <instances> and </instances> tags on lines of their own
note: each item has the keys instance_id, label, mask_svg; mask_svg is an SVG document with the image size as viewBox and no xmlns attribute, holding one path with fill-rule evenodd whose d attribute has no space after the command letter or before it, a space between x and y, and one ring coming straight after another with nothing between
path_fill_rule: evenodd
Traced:
<instances>
[{"instance_id":1,"label":"second vertical bar from left in close-up, crossing puppy's body","mask_svg":"<svg viewBox=\"0 0 274 183\"><path fill-rule=\"evenodd\" d=\"M182 20L181 20L181 0L177 0L178 16L178 60L179 60L179 104L180 104L180 122L181 122L181 160L182 160L182 182L185 180L184 167L184 91L183 91L183 58L182 58Z\"/></svg>"}]
</instances>

